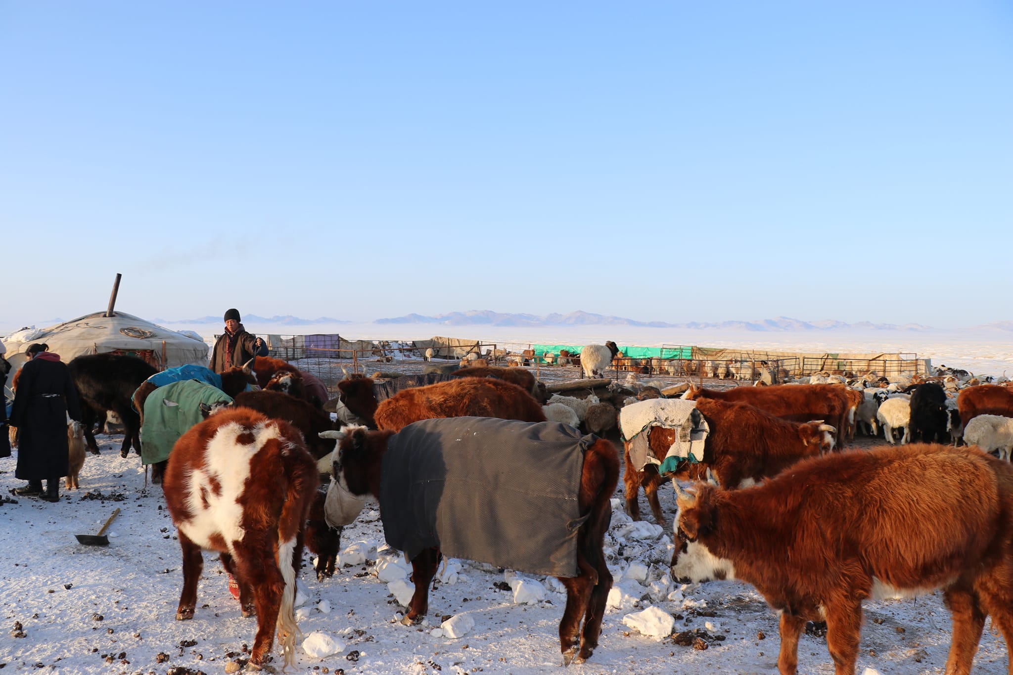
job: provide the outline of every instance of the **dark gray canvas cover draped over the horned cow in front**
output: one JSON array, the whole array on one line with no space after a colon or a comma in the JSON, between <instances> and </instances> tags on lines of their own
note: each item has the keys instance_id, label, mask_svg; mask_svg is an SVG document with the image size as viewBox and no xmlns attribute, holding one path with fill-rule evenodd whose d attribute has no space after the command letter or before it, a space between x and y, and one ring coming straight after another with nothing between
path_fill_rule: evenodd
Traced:
<instances>
[{"instance_id":1,"label":"dark gray canvas cover draped over the horned cow in front","mask_svg":"<svg viewBox=\"0 0 1013 675\"><path fill-rule=\"evenodd\" d=\"M451 417L409 424L383 457L387 543L575 577L583 453L597 440L558 422Z\"/></svg>"}]
</instances>

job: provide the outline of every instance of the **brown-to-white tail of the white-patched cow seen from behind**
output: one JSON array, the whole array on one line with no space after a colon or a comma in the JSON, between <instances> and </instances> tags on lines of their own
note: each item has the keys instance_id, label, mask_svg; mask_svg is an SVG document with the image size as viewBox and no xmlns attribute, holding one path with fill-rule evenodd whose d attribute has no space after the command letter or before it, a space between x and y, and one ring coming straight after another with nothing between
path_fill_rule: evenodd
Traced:
<instances>
[{"instance_id":1,"label":"brown-to-white tail of the white-patched cow seen from behind","mask_svg":"<svg viewBox=\"0 0 1013 675\"><path fill-rule=\"evenodd\" d=\"M285 668L295 666L296 643L302 641L303 634L296 623L296 541L310 505L316 494L316 466L307 455L307 461L294 461L289 477L289 494L282 507L282 517L278 522L278 567L285 580L282 603L278 611L278 642L285 655ZM304 463L306 466L304 466Z\"/></svg>"}]
</instances>

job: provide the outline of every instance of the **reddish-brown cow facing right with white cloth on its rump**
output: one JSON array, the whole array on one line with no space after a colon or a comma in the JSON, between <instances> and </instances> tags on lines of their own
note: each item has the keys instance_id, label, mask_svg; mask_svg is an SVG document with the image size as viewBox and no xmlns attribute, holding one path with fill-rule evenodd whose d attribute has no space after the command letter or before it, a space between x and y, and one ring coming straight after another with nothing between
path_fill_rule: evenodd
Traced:
<instances>
[{"instance_id":1,"label":"reddish-brown cow facing right with white cloth on its rump","mask_svg":"<svg viewBox=\"0 0 1013 675\"><path fill-rule=\"evenodd\" d=\"M674 478L684 481L703 480L710 469L721 485L734 490L743 481L759 482L776 476L803 457L834 449L836 430L821 421L792 422L753 406L714 399L698 399L697 410L707 421L710 432L704 441L704 460L698 463L682 461L676 468ZM675 441L675 430L653 427L647 433L654 456L664 458ZM648 463L638 472L630 459L629 441L625 445L626 513L634 520L640 519L637 492L642 486L654 520L667 527L657 501L657 487L661 483L657 467Z\"/></svg>"}]
</instances>

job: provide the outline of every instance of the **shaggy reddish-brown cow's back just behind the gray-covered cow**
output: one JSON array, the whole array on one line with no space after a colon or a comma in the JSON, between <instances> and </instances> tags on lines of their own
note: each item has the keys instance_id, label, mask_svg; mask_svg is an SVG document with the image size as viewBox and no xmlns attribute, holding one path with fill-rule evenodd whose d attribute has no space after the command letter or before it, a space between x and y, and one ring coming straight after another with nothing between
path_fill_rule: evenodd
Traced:
<instances>
[{"instance_id":1,"label":"shaggy reddish-brown cow's back just behind the gray-covered cow","mask_svg":"<svg viewBox=\"0 0 1013 675\"><path fill-rule=\"evenodd\" d=\"M437 417L499 417L544 422L545 413L532 396L491 377L464 377L399 392L377 406L377 428L398 431L418 420Z\"/></svg>"}]
</instances>

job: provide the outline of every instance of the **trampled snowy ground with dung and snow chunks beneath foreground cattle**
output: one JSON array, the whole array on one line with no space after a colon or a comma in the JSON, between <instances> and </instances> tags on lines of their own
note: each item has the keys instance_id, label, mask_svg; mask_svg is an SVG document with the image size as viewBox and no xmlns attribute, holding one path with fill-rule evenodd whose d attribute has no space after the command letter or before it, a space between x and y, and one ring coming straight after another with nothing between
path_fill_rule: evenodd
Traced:
<instances>
[{"instance_id":1,"label":"trampled snowy ground with dung and snow chunks beneath foreground cattle","mask_svg":"<svg viewBox=\"0 0 1013 675\"><path fill-rule=\"evenodd\" d=\"M4 672L229 672L228 664L245 656L243 646L252 645L255 620L240 617L221 566L211 555L206 555L197 615L175 620L180 554L161 488L145 487L137 455L120 457L120 436L99 440L102 454L88 455L76 493L63 492L57 504L14 497L17 504L0 506L8 552L0 563L5 622L0 667ZM14 458L0 459L0 494L10 497L9 488L20 483L13 473ZM570 671L776 672L777 617L762 597L736 582L672 583L667 577L669 533L652 522L631 523L620 508L620 491L607 540L618 590L605 616L600 647L587 664L570 666ZM672 490L663 489L661 496L671 518ZM122 511L108 530L107 547L77 542L75 534L97 532L118 506ZM649 513L643 499L641 508ZM557 629L565 595L554 580L514 580L519 595L544 596L524 604L508 585L510 571L452 562L431 594L425 624L408 627L396 622L402 611L391 592L396 587L377 576L378 563L384 563L379 567L386 568L385 578L395 581L404 569L390 565L397 558L384 549L375 504L345 528L341 543L344 553L332 579L321 583L308 567L302 572L300 627L313 642L307 645L309 653L298 650L294 672L561 672ZM305 560L308 566L309 554ZM679 642L699 637L698 648L706 649L645 636L627 625L635 622L627 616L648 607L654 608L655 624L658 617L672 616L677 635L699 631L683 635ZM940 594L869 602L865 611L859 672L943 672L949 616ZM474 627L461 638L442 636L439 628L447 616L471 619ZM15 622L23 637L13 637ZM312 656L322 643L340 651ZM1001 637L986 630L975 672L1005 673L1006 664ZM280 656L275 665L281 668ZM799 669L833 672L825 639L803 637Z\"/></svg>"}]
</instances>

